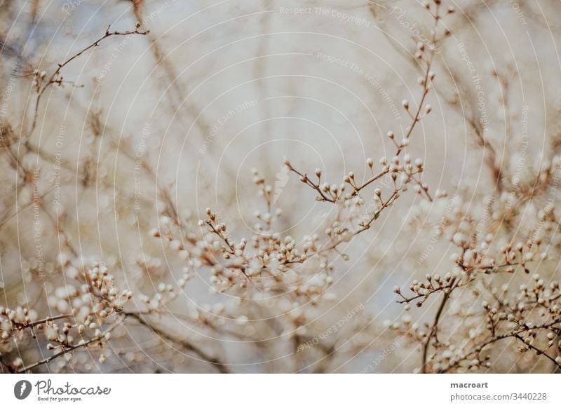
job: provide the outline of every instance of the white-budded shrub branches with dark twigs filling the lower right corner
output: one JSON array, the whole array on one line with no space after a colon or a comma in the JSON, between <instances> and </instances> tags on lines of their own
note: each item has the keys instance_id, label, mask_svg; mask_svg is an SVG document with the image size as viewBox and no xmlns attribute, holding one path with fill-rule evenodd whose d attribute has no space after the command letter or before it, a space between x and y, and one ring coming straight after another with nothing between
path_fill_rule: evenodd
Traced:
<instances>
[{"instance_id":1,"label":"white-budded shrub branches with dark twigs filling the lower right corner","mask_svg":"<svg viewBox=\"0 0 561 408\"><path fill-rule=\"evenodd\" d=\"M534 187L532 200L538 203L544 198L543 191L555 189L550 183L561 170L561 161L555 157L553 163L537 177L541 193ZM528 198L517 197L517 208L524 208ZM447 197L442 194L440 200ZM507 200L507 194L496 202L482 200L489 216L480 224L475 220L485 218L474 214L464 198L458 198L445 225L435 227L435 233L456 250L450 256L450 271L428 273L425 280L414 280L408 290L394 289L407 311L411 304L420 308L429 299L440 297L433 320L412 323L410 316L404 315L402 322L391 324L393 330L421 344L422 372L492 367L494 354L504 350L501 342L511 339L519 353L528 354L520 358L522 363L537 365L543 357L553 367L561 367L561 342L557 339L561 292L555 274L548 271L557 229L553 208L546 205L539 210L529 203L524 212L508 214ZM497 220L506 217L509 224L527 229L504 231ZM541 276L544 270L546 276ZM447 310L452 299L454 306Z\"/></svg>"}]
</instances>

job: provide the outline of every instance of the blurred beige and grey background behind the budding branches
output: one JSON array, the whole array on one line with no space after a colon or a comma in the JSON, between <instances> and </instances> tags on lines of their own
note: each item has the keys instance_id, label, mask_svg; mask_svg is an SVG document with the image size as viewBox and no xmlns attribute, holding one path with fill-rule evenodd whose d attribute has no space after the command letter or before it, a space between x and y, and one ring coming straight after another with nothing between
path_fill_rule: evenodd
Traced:
<instances>
[{"instance_id":1,"label":"blurred beige and grey background behind the budding branches","mask_svg":"<svg viewBox=\"0 0 561 408\"><path fill-rule=\"evenodd\" d=\"M537 168L561 141L561 6L448 6L455 13L442 20L450 33L435 44L435 90L426 101L433 112L407 153L424 161L430 191L457 194L484 216L485 198L501 194L489 163L506 174L520 163ZM104 39L65 65L37 103L37 78L48 79L107 27L137 24L149 34ZM184 266L149 231L174 216L170 208L196 231L210 207L233 238L249 238L255 211L264 210L252 169L274 186L283 236L300 243L323 229L336 209L317 202L283 161L341 183L349 171L367 179L367 158L391 158L386 133L400 140L410 125L402 100L417 107L423 67L414 54L418 43L433 45L432 27L414 0L0 0L0 304L54 315L65 259L95 259L133 291L129 307L141 309L137 296L151 297ZM458 187L466 184L468 192ZM445 273L450 250L414 225L419 213L438 224L450 205L421 201L404 193L345 249L349 261L334 262L327 305L216 294L201 271L168 304L170 320L155 321L221 355L232 372L412 372L419 351L384 325L403 310L392 287ZM244 312L243 327L234 322L236 335L209 331L201 314L217 304L228 319L240 308L253 314ZM291 334L300 324L280 321L283 313L303 313L304 337L321 347L297 351L306 344ZM318 338L349 313L336 333ZM43 369L215 371L157 329L119 330L108 364L88 351ZM29 360L41 348L41 339L22 339L4 353Z\"/></svg>"}]
</instances>

